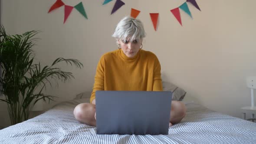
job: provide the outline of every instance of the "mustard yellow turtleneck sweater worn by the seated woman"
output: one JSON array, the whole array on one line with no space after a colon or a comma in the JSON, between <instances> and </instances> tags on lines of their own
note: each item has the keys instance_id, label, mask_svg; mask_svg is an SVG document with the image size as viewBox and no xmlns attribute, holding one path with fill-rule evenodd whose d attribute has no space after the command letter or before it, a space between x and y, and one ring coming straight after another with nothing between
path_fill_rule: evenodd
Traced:
<instances>
[{"instance_id":1,"label":"mustard yellow turtleneck sweater worn by the seated woman","mask_svg":"<svg viewBox=\"0 0 256 144\"><path fill-rule=\"evenodd\" d=\"M142 49L133 58L127 57L121 49L105 53L97 65L91 103L98 90L162 91L157 56Z\"/></svg>"}]
</instances>

